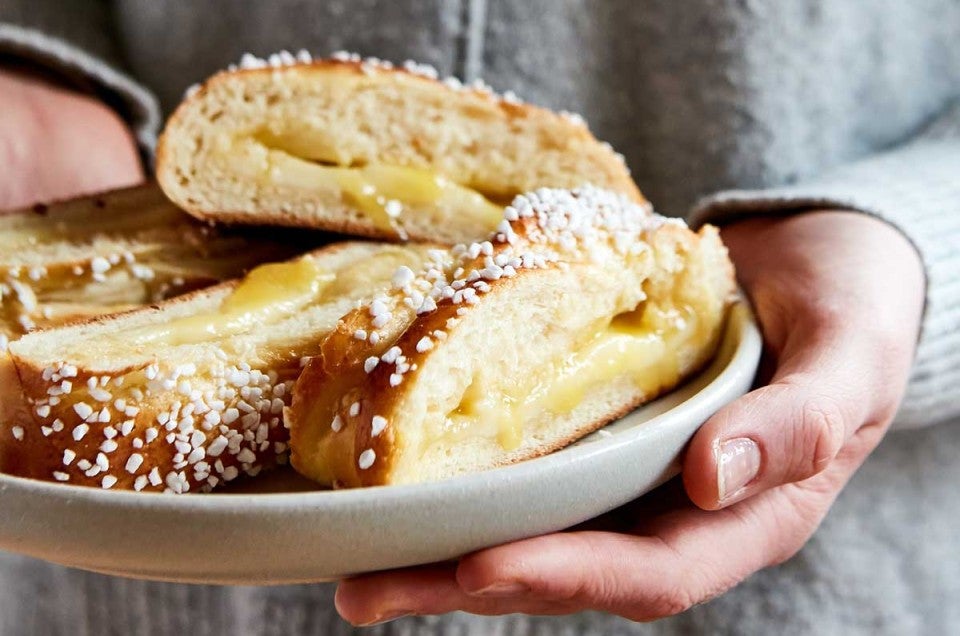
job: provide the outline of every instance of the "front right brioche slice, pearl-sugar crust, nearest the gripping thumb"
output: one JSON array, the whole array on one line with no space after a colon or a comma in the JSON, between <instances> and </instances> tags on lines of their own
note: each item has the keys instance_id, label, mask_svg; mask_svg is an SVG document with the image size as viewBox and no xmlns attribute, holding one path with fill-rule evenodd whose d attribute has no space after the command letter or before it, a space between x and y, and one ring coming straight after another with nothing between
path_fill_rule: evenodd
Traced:
<instances>
[{"instance_id":1,"label":"front right brioche slice, pearl-sugar crust, nearest the gripping thumb","mask_svg":"<svg viewBox=\"0 0 960 636\"><path fill-rule=\"evenodd\" d=\"M592 187L518 197L327 337L294 387L292 464L354 487L549 453L703 366L733 291L715 228Z\"/></svg>"}]
</instances>

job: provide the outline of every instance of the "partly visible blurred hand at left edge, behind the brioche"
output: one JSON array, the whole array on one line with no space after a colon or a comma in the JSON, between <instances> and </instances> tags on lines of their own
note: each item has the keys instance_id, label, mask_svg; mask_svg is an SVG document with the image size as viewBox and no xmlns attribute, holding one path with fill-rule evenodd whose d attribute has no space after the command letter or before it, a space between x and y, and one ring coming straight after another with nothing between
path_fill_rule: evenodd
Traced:
<instances>
[{"instance_id":1,"label":"partly visible blurred hand at left edge, behind the brioche","mask_svg":"<svg viewBox=\"0 0 960 636\"><path fill-rule=\"evenodd\" d=\"M0 68L0 210L133 185L136 144L96 98Z\"/></svg>"}]
</instances>

